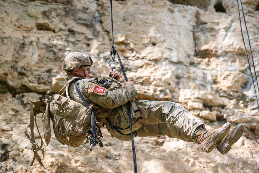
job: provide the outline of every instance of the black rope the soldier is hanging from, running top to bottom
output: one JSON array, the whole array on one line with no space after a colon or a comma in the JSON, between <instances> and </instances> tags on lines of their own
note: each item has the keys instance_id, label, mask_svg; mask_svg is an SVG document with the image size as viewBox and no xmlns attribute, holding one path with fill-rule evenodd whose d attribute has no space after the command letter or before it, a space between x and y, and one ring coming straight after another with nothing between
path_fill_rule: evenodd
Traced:
<instances>
[{"instance_id":1,"label":"black rope the soldier is hanging from, running top to bottom","mask_svg":"<svg viewBox=\"0 0 259 173\"><path fill-rule=\"evenodd\" d=\"M112 24L112 0L110 0L110 12L111 12L111 27L112 27L112 45L114 45L114 41L113 41L113 24ZM111 51L112 52L112 51ZM121 62L120 56L118 54L118 52L116 50L113 49L113 53L117 55L119 63L120 63L120 67L122 70L122 73L124 75L124 78L126 81L128 81L128 78L126 76L126 72L124 70L124 66ZM132 133L132 121L131 121L131 103L130 101L127 103L128 105L128 118L129 118L129 123L130 123L130 131L131 131L131 145L132 145L132 154L133 154L133 165L134 165L134 172L137 172L137 161L136 161L136 151L135 151L135 145L134 145L134 140L133 140L133 133Z\"/></svg>"}]
</instances>

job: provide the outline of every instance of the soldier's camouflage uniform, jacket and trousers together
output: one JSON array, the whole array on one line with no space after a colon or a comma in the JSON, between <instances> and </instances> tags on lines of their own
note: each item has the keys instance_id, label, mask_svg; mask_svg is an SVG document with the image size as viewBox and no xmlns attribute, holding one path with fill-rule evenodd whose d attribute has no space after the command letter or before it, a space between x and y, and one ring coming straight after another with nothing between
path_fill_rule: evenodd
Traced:
<instances>
[{"instance_id":1,"label":"soldier's camouflage uniform, jacket and trousers together","mask_svg":"<svg viewBox=\"0 0 259 173\"><path fill-rule=\"evenodd\" d=\"M71 77L68 77L69 80ZM77 86L85 99L92 107L97 121L105 123L111 136L122 141L131 140L127 102L138 95L136 89L131 84L122 86L115 79L109 78L112 87L105 89L94 80L85 78L77 82ZM73 84L69 87L71 99L83 104L78 96ZM192 135L197 127L204 124L188 110L174 102L166 101L146 101L135 102L140 110L141 120L137 120L133 108L131 108L132 130L134 136L159 136L166 135L184 141L196 142ZM105 121L108 118L110 123ZM119 127L120 133L113 127ZM127 129L125 129L127 128ZM122 135L125 134L125 135Z\"/></svg>"}]
</instances>

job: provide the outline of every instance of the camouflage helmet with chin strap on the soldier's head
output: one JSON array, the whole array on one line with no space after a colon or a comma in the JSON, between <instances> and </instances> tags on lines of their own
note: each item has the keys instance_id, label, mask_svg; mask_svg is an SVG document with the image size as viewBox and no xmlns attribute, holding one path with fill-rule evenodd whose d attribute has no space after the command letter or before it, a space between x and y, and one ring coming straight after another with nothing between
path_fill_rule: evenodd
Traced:
<instances>
[{"instance_id":1,"label":"camouflage helmet with chin strap on the soldier's head","mask_svg":"<svg viewBox=\"0 0 259 173\"><path fill-rule=\"evenodd\" d=\"M69 70L77 70L81 66L83 67L83 70L84 70L84 66L92 66L92 64L93 64L93 61L90 56L80 52L72 52L72 53L69 53L64 59L62 69L66 71L66 73L68 74L73 74L75 76L78 76L74 73L69 72Z\"/></svg>"}]
</instances>

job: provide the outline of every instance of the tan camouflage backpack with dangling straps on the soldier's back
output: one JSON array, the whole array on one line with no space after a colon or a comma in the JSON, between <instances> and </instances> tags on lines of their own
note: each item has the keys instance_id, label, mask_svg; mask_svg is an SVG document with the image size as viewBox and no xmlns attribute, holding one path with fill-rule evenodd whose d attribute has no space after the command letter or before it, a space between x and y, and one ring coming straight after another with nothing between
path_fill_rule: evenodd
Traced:
<instances>
[{"instance_id":1,"label":"tan camouflage backpack with dangling straps on the soldier's back","mask_svg":"<svg viewBox=\"0 0 259 173\"><path fill-rule=\"evenodd\" d=\"M92 147L94 147L96 144L99 144L100 147L103 146L102 142L100 141L100 138L103 136L100 131L100 127L95 126L95 117L91 110L92 106L88 105L82 93L77 88L76 82L79 79L82 79L82 77L71 78L63 86L60 92L55 93L54 95L50 95L50 91L48 91L45 94L46 99L31 101L30 103L24 102L24 105L30 108L30 134L24 132L25 136L28 137L32 143L31 149L34 152L33 160L30 166L33 165L35 158L37 158L41 167L45 170L45 172L48 172L41 162L43 157L40 158L38 151L41 150L42 155L44 156L45 147L48 146L50 142L50 119L53 122L55 137L63 145L66 144L71 147L78 147L84 142L85 139L87 139L86 142L90 141L91 144L90 151L92 151ZM66 91L68 91L69 85L72 82L75 83L75 88L78 92L78 95L84 102L84 105L69 98L68 92ZM60 94L65 87L66 89L64 92ZM28 105L30 105L30 107ZM39 113L43 113L41 119L43 119L42 121L44 123L43 133L41 135L35 121L35 117ZM38 146L38 143L34 138L34 122L40 135L40 146Z\"/></svg>"}]
</instances>

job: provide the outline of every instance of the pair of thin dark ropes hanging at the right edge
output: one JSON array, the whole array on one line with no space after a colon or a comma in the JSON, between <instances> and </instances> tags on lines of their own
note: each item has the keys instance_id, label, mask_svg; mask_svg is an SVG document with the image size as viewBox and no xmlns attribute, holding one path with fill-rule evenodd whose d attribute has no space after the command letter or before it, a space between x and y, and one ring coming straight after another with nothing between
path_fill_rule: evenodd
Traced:
<instances>
[{"instance_id":1,"label":"pair of thin dark ropes hanging at the right edge","mask_svg":"<svg viewBox=\"0 0 259 173\"><path fill-rule=\"evenodd\" d=\"M236 2L237 2L237 4L238 4L238 0L236 0ZM241 0L240 0L240 3L241 3L243 18L244 18L244 24L245 24L245 26L246 26L246 19L245 19L245 17L244 17L244 10L243 10L243 5L242 5L242 1L241 1ZM253 81L253 85L254 85L255 98L256 98L257 109L258 109L258 113L259 113L259 105L258 105L257 94L256 94L256 89L255 89L255 82L254 82L254 78L253 78L253 74L252 74L252 71L251 71L251 66L250 66L250 62L249 62L249 58L248 58L248 54L247 54L247 50L246 50L246 44L245 44L245 42L244 42L244 36L243 36L242 25L241 25L241 17L240 17L239 4L238 4L238 14L239 14L239 22L240 22L240 28L241 28L242 39L243 39L243 43L244 43L244 49L245 49L245 51L246 51L246 57L247 57L248 65L249 65L250 75L251 75L251 78L252 78L252 81ZM257 89L258 89L258 92L259 92L258 82L257 82L257 77L256 77L256 72L255 72L255 64L254 64L253 53L252 53L252 49L251 49L251 44L250 44L250 39L249 39L249 35L248 35L247 26L246 26L246 32L247 32L247 37L248 37L248 42L249 42L249 47L250 47L252 62L253 62L253 66L254 66L255 80L256 80Z\"/></svg>"}]
</instances>

